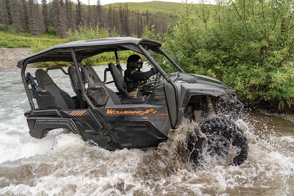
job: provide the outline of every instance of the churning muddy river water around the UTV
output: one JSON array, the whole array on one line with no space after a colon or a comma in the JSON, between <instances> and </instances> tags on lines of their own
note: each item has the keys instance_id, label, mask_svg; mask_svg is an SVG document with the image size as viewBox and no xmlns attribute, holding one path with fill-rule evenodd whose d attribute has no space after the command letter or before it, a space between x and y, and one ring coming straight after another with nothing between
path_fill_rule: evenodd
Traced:
<instances>
[{"instance_id":1,"label":"churning muddy river water around the UTV","mask_svg":"<svg viewBox=\"0 0 294 196\"><path fill-rule=\"evenodd\" d=\"M68 76L50 75L74 95ZM27 110L20 69L0 70L0 195L294 195L294 115L244 113L236 123L249 140L245 164L193 169L176 150L188 125L158 150L109 152L63 130L31 138Z\"/></svg>"}]
</instances>

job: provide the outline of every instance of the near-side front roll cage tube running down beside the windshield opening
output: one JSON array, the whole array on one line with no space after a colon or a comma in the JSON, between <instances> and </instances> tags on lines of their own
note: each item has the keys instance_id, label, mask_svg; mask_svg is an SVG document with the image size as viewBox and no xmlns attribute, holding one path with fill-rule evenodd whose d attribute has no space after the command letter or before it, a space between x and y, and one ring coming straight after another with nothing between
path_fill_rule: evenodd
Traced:
<instances>
[{"instance_id":1,"label":"near-side front roll cage tube running down beside the windshield opening","mask_svg":"<svg viewBox=\"0 0 294 196\"><path fill-rule=\"evenodd\" d=\"M152 65L158 70L158 72L163 76L168 83L170 83L173 86L173 89L175 91L175 98L176 98L176 111L177 111L177 119L178 119L178 105L179 105L179 98L178 98L178 87L174 83L174 80L171 80L171 78L166 74L166 72L157 64L157 62L150 56L150 54L141 46L141 44L138 44L138 48L141 50L142 54L146 56L148 61L152 63ZM178 76L175 76L178 77Z\"/></svg>"}]
</instances>

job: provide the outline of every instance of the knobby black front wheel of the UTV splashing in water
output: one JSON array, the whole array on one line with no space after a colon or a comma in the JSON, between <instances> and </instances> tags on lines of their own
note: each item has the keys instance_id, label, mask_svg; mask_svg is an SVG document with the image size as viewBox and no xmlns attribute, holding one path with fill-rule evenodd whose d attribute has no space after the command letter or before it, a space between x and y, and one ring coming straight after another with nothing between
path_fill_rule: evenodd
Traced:
<instances>
[{"instance_id":1,"label":"knobby black front wheel of the UTV splashing in water","mask_svg":"<svg viewBox=\"0 0 294 196\"><path fill-rule=\"evenodd\" d=\"M225 157L232 147L237 147L239 151L233 159L234 165L241 165L247 159L247 138L234 123L214 118L200 123L199 128L189 135L187 141L190 158L194 163L199 164L204 154Z\"/></svg>"}]
</instances>

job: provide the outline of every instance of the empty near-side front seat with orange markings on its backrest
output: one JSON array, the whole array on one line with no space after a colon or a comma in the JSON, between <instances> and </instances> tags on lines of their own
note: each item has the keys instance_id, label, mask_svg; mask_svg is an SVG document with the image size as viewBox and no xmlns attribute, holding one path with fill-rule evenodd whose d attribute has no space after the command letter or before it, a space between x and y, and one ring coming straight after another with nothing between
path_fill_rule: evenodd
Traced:
<instances>
[{"instance_id":1,"label":"empty near-side front seat with orange markings on its backrest","mask_svg":"<svg viewBox=\"0 0 294 196\"><path fill-rule=\"evenodd\" d=\"M110 88L105 86L101 79L99 78L98 74L94 70L94 68L90 65L85 65L83 67L83 71L85 73L86 80L88 81L89 86L104 86L106 88L107 93L109 94L109 100L106 105L119 105L121 104L121 100L117 96L117 94L112 91Z\"/></svg>"}]
</instances>

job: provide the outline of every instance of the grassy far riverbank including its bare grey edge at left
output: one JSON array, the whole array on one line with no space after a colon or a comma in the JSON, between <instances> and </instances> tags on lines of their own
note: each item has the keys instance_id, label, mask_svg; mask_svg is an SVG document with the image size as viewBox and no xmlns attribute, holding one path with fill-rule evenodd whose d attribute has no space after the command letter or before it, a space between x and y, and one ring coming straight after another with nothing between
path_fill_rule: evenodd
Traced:
<instances>
[{"instance_id":1,"label":"grassy far riverbank including its bare grey edge at left","mask_svg":"<svg viewBox=\"0 0 294 196\"><path fill-rule=\"evenodd\" d=\"M0 68L15 68L16 62L27 56L29 53L36 53L46 48L50 48L52 46L59 45L61 43L68 43L71 41L77 40L87 40L87 39L96 39L96 38L104 38L104 37L117 37L118 34L104 32L102 30L96 29L97 33L93 34L93 29L88 29L86 27L80 27L79 31L75 31L74 34L68 38L60 38L55 35L51 35L49 33L45 33L42 36L32 36L28 33L11 33L4 32L0 30L0 48L8 51L0 51ZM83 32L83 34L79 34L79 32ZM92 32L92 34L91 34ZM100 33L100 34L99 34ZM91 35L91 36L89 36ZM101 36L103 35L103 36ZM31 48L31 49L27 49ZM23 51L24 52L18 52ZM29 50L27 53L26 50ZM9 53L11 51L11 53ZM18 54L19 53L19 54ZM119 51L118 56L120 62L126 62L129 55L133 54L133 51ZM113 52L105 52L96 56L92 56L83 60L82 64L87 65L103 65L108 64L110 62L115 62L115 55ZM63 62L43 62L43 63L35 63L35 67L56 67L56 66L71 66L71 63L63 63Z\"/></svg>"}]
</instances>

